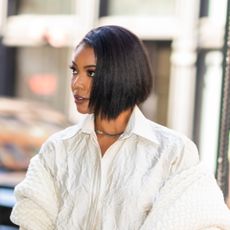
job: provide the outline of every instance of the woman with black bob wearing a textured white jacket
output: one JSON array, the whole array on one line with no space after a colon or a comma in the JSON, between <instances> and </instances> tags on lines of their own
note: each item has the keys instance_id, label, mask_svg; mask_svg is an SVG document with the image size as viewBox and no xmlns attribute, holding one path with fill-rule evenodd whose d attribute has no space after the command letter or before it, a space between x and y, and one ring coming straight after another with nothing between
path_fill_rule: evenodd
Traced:
<instances>
[{"instance_id":1,"label":"woman with black bob wearing a textured white jacket","mask_svg":"<svg viewBox=\"0 0 230 230\"><path fill-rule=\"evenodd\" d=\"M195 145L137 107L152 85L140 40L118 26L93 29L70 68L77 110L89 114L31 160L11 220L26 230L230 229Z\"/></svg>"}]
</instances>

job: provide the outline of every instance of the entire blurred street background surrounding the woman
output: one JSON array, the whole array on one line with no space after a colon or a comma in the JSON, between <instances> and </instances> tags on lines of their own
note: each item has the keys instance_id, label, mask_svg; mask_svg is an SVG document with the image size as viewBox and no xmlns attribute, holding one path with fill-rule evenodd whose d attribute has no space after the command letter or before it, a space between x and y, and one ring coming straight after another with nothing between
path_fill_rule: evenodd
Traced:
<instances>
[{"instance_id":1,"label":"entire blurred street background surrounding the woman","mask_svg":"<svg viewBox=\"0 0 230 230\"><path fill-rule=\"evenodd\" d=\"M13 229L29 159L82 119L68 66L85 33L106 24L142 39L154 72L142 111L197 144L230 203L228 21L229 0L0 0L0 229Z\"/></svg>"}]
</instances>

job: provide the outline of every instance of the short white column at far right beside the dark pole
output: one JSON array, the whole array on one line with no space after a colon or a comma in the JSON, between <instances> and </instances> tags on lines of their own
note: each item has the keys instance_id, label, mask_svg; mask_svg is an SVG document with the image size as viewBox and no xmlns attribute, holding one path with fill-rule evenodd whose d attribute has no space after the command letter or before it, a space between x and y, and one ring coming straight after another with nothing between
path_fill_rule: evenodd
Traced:
<instances>
[{"instance_id":1,"label":"short white column at far right beside the dark pole","mask_svg":"<svg viewBox=\"0 0 230 230\"><path fill-rule=\"evenodd\" d=\"M206 72L200 110L199 152L210 172L215 173L221 102L222 53L210 51L205 56Z\"/></svg>"}]
</instances>

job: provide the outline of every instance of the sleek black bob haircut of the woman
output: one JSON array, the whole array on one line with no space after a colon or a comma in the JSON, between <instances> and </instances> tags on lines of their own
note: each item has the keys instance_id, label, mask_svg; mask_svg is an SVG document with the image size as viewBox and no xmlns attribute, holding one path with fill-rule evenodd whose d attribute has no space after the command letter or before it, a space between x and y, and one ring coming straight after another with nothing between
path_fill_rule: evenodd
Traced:
<instances>
[{"instance_id":1,"label":"sleek black bob haircut of the woman","mask_svg":"<svg viewBox=\"0 0 230 230\"><path fill-rule=\"evenodd\" d=\"M89 101L95 116L114 119L148 97L151 68L136 35L120 26L102 26L88 32L80 44L92 47L96 56Z\"/></svg>"}]
</instances>

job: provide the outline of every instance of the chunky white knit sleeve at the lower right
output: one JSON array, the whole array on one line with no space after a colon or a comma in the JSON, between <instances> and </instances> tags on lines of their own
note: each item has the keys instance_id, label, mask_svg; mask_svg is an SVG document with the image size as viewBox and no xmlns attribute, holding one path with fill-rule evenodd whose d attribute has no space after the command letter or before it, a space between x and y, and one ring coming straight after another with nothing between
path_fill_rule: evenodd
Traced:
<instances>
[{"instance_id":1,"label":"chunky white knit sleeve at the lower right","mask_svg":"<svg viewBox=\"0 0 230 230\"><path fill-rule=\"evenodd\" d=\"M169 178L141 230L230 229L230 210L202 164Z\"/></svg>"}]
</instances>

